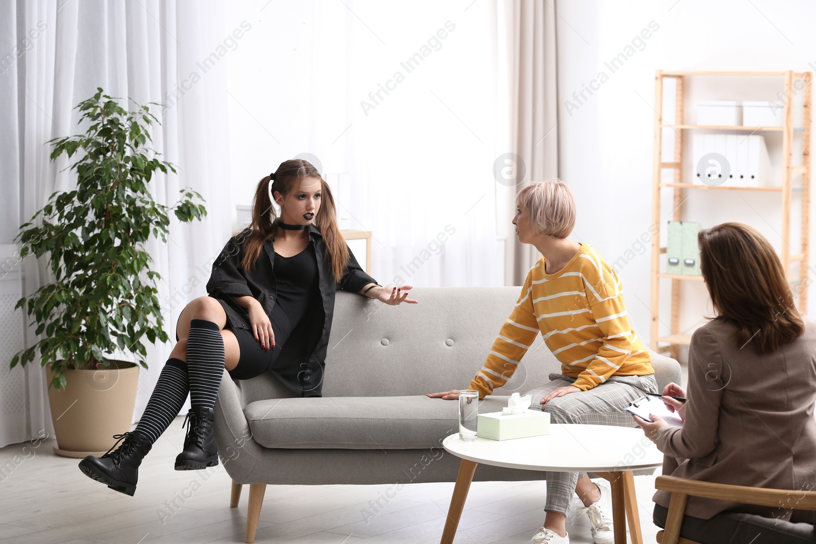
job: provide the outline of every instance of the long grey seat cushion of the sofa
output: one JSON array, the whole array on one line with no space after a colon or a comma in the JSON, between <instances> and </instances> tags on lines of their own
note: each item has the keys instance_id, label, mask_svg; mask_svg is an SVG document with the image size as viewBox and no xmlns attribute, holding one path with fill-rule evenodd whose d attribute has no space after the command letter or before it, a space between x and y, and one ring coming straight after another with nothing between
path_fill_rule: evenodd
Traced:
<instances>
[{"instance_id":1,"label":"long grey seat cushion of the sofa","mask_svg":"<svg viewBox=\"0 0 816 544\"><path fill-rule=\"evenodd\" d=\"M507 400L481 400L479 413L498 412ZM459 402L427 396L256 400L244 415L252 438L265 448L438 448L459 430Z\"/></svg>"}]
</instances>

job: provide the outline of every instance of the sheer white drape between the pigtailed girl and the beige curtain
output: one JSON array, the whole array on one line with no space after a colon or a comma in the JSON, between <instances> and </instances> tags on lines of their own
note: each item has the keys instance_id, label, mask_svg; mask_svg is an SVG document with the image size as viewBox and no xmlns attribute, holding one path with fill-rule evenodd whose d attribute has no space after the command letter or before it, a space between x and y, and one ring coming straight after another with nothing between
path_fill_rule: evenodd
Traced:
<instances>
[{"instance_id":1,"label":"sheer white drape between the pigtailed girl and the beige curtain","mask_svg":"<svg viewBox=\"0 0 816 544\"><path fill-rule=\"evenodd\" d=\"M399 26L377 33L387 46L350 21L347 206L370 225L383 284L499 285L496 6L465 8L421 2L393 14ZM363 20L384 20L381 9L353 5Z\"/></svg>"}]
</instances>

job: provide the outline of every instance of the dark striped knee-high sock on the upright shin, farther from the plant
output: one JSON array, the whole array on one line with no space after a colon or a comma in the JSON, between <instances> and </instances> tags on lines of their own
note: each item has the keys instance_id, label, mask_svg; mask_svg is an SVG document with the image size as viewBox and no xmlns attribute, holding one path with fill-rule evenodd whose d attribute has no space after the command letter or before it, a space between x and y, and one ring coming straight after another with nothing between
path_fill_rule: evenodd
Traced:
<instances>
[{"instance_id":1,"label":"dark striped knee-high sock on the upright shin, farther from the plant","mask_svg":"<svg viewBox=\"0 0 816 544\"><path fill-rule=\"evenodd\" d=\"M187 366L190 404L193 408L215 406L224 374L224 338L218 325L203 319L190 320L187 335Z\"/></svg>"}]
</instances>

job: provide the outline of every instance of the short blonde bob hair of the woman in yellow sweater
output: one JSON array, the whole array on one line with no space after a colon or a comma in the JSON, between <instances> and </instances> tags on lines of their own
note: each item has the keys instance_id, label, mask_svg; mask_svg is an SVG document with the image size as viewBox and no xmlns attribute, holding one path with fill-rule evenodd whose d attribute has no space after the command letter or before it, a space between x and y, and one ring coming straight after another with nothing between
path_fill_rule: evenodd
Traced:
<instances>
[{"instance_id":1,"label":"short blonde bob hair of the woman in yellow sweater","mask_svg":"<svg viewBox=\"0 0 816 544\"><path fill-rule=\"evenodd\" d=\"M575 227L575 201L561 179L526 185L516 195L516 205L530 216L536 235L565 238Z\"/></svg>"}]
</instances>

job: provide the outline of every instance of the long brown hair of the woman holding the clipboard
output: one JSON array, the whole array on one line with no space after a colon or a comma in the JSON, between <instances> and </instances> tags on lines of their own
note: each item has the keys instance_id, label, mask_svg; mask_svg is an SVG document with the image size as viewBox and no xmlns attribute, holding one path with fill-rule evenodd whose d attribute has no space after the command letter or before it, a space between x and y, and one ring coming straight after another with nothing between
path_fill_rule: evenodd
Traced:
<instances>
[{"instance_id":1,"label":"long brown hair of the woman holding the clipboard","mask_svg":"<svg viewBox=\"0 0 816 544\"><path fill-rule=\"evenodd\" d=\"M805 332L782 263L769 241L743 223L699 232L700 268L718 317L737 326L740 347L774 352Z\"/></svg>"}]
</instances>

